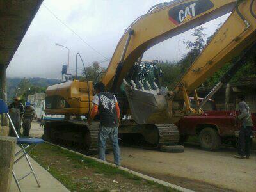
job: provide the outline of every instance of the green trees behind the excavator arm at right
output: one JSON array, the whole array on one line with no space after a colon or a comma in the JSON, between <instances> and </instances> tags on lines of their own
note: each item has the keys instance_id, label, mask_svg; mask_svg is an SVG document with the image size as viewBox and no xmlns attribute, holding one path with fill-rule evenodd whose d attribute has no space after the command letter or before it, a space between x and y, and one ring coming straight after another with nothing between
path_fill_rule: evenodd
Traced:
<instances>
[{"instance_id":1,"label":"green trees behind the excavator arm at right","mask_svg":"<svg viewBox=\"0 0 256 192\"><path fill-rule=\"evenodd\" d=\"M219 24L218 29L220 29L221 24ZM162 68L164 77L162 79L162 83L164 86L168 86L169 89L172 89L177 81L179 81L180 77L188 70L188 68L192 65L192 63L196 60L196 58L200 55L205 47L205 33L202 27L195 28L191 35L196 37L195 42L187 41L185 44L190 49L188 54L180 62L163 62L160 60L159 67ZM207 38L206 43L208 44L214 35L218 32L218 29L214 32L213 35ZM207 45L206 44L206 45ZM246 77L256 77L256 47L254 46L253 49L250 50L250 55L248 58L245 58L246 62L241 67L236 75L232 77L231 83L237 83L241 81L241 79ZM207 88L211 88L212 86L216 85L218 81L220 81L221 77L228 69L232 66L239 59L239 56L234 57L232 61L226 63L220 70L212 74L205 83L204 86Z\"/></svg>"}]
</instances>

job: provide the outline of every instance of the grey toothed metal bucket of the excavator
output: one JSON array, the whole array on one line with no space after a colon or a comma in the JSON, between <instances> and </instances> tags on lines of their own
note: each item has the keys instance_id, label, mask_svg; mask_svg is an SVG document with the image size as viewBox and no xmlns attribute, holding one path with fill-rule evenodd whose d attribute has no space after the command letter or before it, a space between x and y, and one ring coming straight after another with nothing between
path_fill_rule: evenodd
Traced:
<instances>
[{"instance_id":1,"label":"grey toothed metal bucket of the excavator","mask_svg":"<svg viewBox=\"0 0 256 192\"><path fill-rule=\"evenodd\" d=\"M137 124L173 123L168 111L168 101L159 90L138 89L124 80L125 93L131 109L132 119Z\"/></svg>"}]
</instances>

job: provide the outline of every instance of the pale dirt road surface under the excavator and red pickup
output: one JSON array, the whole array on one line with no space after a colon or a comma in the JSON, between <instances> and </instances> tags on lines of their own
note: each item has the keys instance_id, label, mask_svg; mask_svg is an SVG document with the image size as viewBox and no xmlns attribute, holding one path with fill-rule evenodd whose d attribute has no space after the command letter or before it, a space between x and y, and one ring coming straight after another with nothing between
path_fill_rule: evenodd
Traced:
<instances>
[{"instance_id":1,"label":"pale dirt road surface under the excavator and red pickup","mask_svg":"<svg viewBox=\"0 0 256 192\"><path fill-rule=\"evenodd\" d=\"M31 136L43 129L33 122ZM195 191L256 191L256 154L235 159L233 148L206 152L186 145L185 152L169 154L141 148L121 147L122 166ZM113 154L107 155L113 161Z\"/></svg>"}]
</instances>

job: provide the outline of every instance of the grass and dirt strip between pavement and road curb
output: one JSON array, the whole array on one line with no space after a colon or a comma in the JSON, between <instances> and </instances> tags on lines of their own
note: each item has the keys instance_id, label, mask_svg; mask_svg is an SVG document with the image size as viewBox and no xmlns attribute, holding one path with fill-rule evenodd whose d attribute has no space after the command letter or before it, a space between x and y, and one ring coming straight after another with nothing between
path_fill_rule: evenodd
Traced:
<instances>
[{"instance_id":1,"label":"grass and dirt strip between pavement and road curb","mask_svg":"<svg viewBox=\"0 0 256 192\"><path fill-rule=\"evenodd\" d=\"M120 191L177 191L49 143L38 145L30 155L70 191L109 191L115 186L124 186ZM116 179L119 180L115 183ZM107 189L99 189L104 184Z\"/></svg>"}]
</instances>

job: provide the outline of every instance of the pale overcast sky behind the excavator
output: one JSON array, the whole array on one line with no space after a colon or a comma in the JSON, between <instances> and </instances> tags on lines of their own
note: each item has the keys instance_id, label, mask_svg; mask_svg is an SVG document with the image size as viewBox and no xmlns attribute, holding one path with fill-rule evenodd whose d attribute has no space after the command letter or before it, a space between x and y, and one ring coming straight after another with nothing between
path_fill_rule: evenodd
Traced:
<instances>
[{"instance_id":1,"label":"pale overcast sky behind the excavator","mask_svg":"<svg viewBox=\"0 0 256 192\"><path fill-rule=\"evenodd\" d=\"M44 5L60 20L72 28L100 54L111 58L124 29L138 16L146 13L161 0L45 0ZM102 61L104 57L93 51L64 24L61 24L42 5L8 66L8 77L45 77L60 79L61 66L67 63L70 49L70 72L74 73L76 53L80 52L86 65ZM204 24L207 36L212 35L227 15ZM178 60L178 40L193 40L187 31L155 45L143 58L147 60ZM180 56L186 54L186 46L180 43ZM81 63L79 63L81 68ZM102 63L107 67L108 61Z\"/></svg>"}]
</instances>

